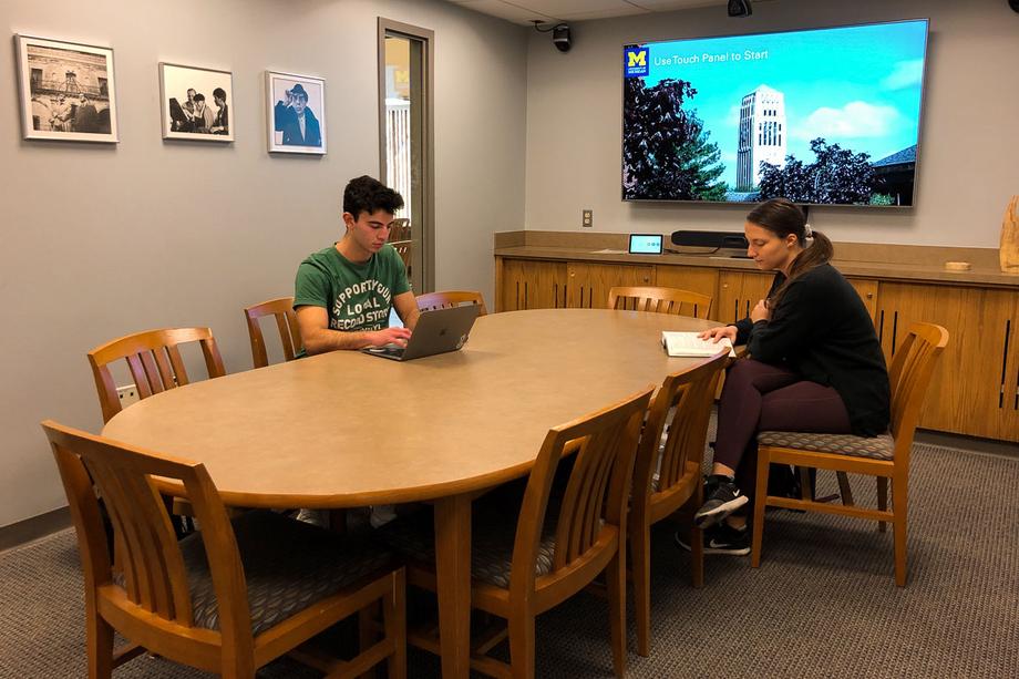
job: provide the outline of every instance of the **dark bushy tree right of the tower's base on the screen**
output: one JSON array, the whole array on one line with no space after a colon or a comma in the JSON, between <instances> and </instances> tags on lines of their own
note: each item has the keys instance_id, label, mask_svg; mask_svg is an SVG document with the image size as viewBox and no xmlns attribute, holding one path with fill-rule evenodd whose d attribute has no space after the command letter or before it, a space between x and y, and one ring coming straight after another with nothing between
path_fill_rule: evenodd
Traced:
<instances>
[{"instance_id":1,"label":"dark bushy tree right of the tower's base on the screen","mask_svg":"<svg viewBox=\"0 0 1019 679\"><path fill-rule=\"evenodd\" d=\"M793 203L866 204L876 178L871 156L853 153L817 137L811 141L814 162L805 165L785 156L785 166L761 163L761 200L785 197Z\"/></svg>"}]
</instances>

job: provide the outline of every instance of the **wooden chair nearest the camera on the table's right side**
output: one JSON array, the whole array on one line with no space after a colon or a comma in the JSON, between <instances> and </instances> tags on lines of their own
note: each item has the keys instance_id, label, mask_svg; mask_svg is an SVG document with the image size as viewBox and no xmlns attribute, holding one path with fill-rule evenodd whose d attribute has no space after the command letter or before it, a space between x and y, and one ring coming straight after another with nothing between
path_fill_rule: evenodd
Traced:
<instances>
[{"instance_id":1,"label":"wooden chair nearest the camera on the table's right side","mask_svg":"<svg viewBox=\"0 0 1019 679\"><path fill-rule=\"evenodd\" d=\"M626 506L634 455L651 389L545 436L523 498L494 492L474 504L471 605L508 623L473 645L471 667L491 676L533 677L535 616L605 573L616 675L626 668ZM565 492L549 500L564 453L572 455ZM558 484L557 484L558 485ZM506 497L506 495L512 495ZM428 513L423 513L426 514ZM434 538L428 521L400 519L384 537L412 559L408 582L434 589ZM511 666L487 651L510 638ZM439 652L438 639L409 634Z\"/></svg>"}]
</instances>

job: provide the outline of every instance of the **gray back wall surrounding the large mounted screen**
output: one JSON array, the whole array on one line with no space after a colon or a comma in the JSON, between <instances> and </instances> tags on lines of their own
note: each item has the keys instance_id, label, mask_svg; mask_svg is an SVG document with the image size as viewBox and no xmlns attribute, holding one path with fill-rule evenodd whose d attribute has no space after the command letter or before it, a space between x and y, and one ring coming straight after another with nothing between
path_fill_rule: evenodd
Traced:
<instances>
[{"instance_id":1,"label":"gray back wall surrounding the large mounted screen","mask_svg":"<svg viewBox=\"0 0 1019 679\"><path fill-rule=\"evenodd\" d=\"M848 23L930 19L917 205L905 210L813 208L834 240L998 247L1008 198L1019 193L1019 14L1005 0L775 0L753 17L720 7L574 24L557 52L532 35L527 64L527 228L663 233L741 230L745 207L622 203L621 45Z\"/></svg>"}]
</instances>

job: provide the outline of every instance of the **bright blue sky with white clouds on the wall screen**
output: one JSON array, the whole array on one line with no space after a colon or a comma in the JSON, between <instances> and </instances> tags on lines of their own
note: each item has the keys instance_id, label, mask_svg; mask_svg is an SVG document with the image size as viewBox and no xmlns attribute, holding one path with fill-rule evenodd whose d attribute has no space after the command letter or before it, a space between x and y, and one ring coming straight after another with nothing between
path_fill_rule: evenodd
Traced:
<instances>
[{"instance_id":1,"label":"bright blue sky with white clouds on the wall screen","mask_svg":"<svg viewBox=\"0 0 1019 679\"><path fill-rule=\"evenodd\" d=\"M810 141L819 136L872 162L916 144L926 37L927 22L917 20L652 42L644 80L693 84L683 107L704 121L731 186L740 102L759 85L785 95L786 153L803 162L813 162Z\"/></svg>"}]
</instances>

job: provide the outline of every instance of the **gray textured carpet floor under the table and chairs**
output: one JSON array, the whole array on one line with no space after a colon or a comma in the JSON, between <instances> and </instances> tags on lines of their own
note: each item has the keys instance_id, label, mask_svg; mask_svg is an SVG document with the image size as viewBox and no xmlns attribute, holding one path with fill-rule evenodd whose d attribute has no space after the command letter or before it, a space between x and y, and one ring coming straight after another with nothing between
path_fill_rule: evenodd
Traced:
<instances>
[{"instance_id":1,"label":"gray textured carpet floor under the table and chairs","mask_svg":"<svg viewBox=\"0 0 1019 679\"><path fill-rule=\"evenodd\" d=\"M852 477L851 477L852 479ZM857 503L873 487L854 479ZM821 514L770 512L761 568L709 556L706 586L672 527L653 533L652 649L630 677L1019 676L1019 460L917 445L906 588L893 579L891 532ZM822 475L820 492L834 492ZM0 677L85 676L83 599L73 531L0 554ZM635 648L632 611L630 648ZM611 677L605 604L581 593L537 626L539 677ZM439 676L411 651L411 677ZM141 657L115 677L203 677ZM317 677L284 659L264 679Z\"/></svg>"}]
</instances>

